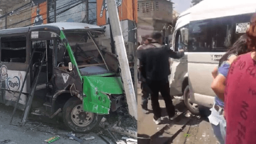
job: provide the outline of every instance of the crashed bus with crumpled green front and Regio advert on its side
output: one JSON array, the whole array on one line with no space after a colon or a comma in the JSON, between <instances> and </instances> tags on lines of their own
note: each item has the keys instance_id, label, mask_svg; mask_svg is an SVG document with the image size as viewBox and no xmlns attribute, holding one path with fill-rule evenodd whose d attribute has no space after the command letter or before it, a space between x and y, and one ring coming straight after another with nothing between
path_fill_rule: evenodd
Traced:
<instances>
[{"instance_id":1,"label":"crashed bus with crumpled green front and Regio advert on its side","mask_svg":"<svg viewBox=\"0 0 256 144\"><path fill-rule=\"evenodd\" d=\"M59 114L72 131L97 126L125 99L117 57L101 44L109 39L104 32L84 23L0 30L0 102L24 110L23 124L32 109Z\"/></svg>"}]
</instances>

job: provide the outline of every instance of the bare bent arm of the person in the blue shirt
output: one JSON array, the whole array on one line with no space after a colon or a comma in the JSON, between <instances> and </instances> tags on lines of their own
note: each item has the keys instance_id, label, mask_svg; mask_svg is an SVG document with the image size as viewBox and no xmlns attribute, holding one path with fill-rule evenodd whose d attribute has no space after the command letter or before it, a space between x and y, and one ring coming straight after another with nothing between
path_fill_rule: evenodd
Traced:
<instances>
[{"instance_id":1,"label":"bare bent arm of the person in the blue shirt","mask_svg":"<svg viewBox=\"0 0 256 144\"><path fill-rule=\"evenodd\" d=\"M224 93L225 93L225 81L226 77L222 74L218 74L211 84L212 90L215 94L222 100L224 100Z\"/></svg>"}]
</instances>

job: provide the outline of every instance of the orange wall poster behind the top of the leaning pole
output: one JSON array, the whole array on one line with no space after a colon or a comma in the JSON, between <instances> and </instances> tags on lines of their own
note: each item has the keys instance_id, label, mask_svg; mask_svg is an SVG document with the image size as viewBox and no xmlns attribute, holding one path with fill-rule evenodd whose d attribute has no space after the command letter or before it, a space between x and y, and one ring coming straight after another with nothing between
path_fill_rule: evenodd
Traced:
<instances>
[{"instance_id":1,"label":"orange wall poster behind the top of the leaning pole","mask_svg":"<svg viewBox=\"0 0 256 144\"><path fill-rule=\"evenodd\" d=\"M120 21L122 20L132 20L135 7L133 6L133 0L115 0L116 6L119 14ZM137 10L136 10L137 12ZM109 14L106 0L97 0L97 25L107 25L109 24Z\"/></svg>"}]
</instances>

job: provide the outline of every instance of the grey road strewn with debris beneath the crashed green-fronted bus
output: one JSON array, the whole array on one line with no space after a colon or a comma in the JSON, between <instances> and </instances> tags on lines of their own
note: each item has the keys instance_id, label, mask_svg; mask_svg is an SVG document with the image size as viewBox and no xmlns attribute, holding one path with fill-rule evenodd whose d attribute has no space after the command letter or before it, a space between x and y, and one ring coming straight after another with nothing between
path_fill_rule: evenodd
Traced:
<instances>
[{"instance_id":1,"label":"grey road strewn with debris beneath the crashed green-fronted bus","mask_svg":"<svg viewBox=\"0 0 256 144\"><path fill-rule=\"evenodd\" d=\"M14 107L12 106L5 106L4 104L0 104L0 143L5 144L46 144L44 140L51 138L53 136L60 136L60 139L53 142L54 144L79 144L78 141L71 140L68 136L63 135L63 133L68 132L61 129L61 127L55 127L54 125L47 125L36 123L27 123L26 125L19 127L10 125L10 119L12 110ZM13 123L17 124L20 122L20 116L22 115L22 111L17 111ZM53 120L54 121L54 120ZM58 125L58 124L56 124ZM61 126L61 124L59 124ZM30 130L38 126L35 129ZM77 137L81 139L87 138L90 136L94 136L95 139L83 141L82 144L107 144L103 141L100 137L97 136L96 133L89 133L89 134L76 134Z\"/></svg>"}]
</instances>

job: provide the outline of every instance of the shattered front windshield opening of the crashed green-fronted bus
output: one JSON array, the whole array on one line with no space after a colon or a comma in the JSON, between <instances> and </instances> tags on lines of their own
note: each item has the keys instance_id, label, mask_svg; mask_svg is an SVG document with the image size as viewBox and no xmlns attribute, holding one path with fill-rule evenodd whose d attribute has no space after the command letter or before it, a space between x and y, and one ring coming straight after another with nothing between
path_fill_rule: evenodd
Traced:
<instances>
[{"instance_id":1,"label":"shattered front windshield opening of the crashed green-fronted bus","mask_svg":"<svg viewBox=\"0 0 256 144\"><path fill-rule=\"evenodd\" d=\"M90 32L94 38L102 35L102 33L98 31ZM104 58L101 57L92 38L87 34L87 31L64 31L64 33L74 53L77 65L81 68L79 70L82 75L109 73L104 65ZM98 42L96 41L96 43ZM88 67L87 65L90 66Z\"/></svg>"}]
</instances>

